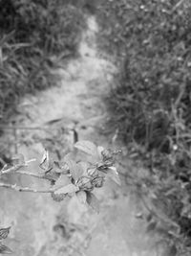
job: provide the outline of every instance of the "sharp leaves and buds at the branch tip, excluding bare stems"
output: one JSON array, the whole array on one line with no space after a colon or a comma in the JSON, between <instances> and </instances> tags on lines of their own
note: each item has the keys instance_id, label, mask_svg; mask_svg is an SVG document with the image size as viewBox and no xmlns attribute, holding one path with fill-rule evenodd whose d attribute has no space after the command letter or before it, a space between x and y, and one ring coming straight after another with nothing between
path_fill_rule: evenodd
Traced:
<instances>
[{"instance_id":1,"label":"sharp leaves and buds at the branch tip, excluding bare stems","mask_svg":"<svg viewBox=\"0 0 191 256\"><path fill-rule=\"evenodd\" d=\"M53 198L60 200L71 193L75 193L76 197L83 203L87 202L92 208L98 211L98 201L92 193L95 188L101 188L104 184L105 177L109 176L120 185L120 180L117 174L117 169L114 166L114 155L118 151L111 151L96 145L89 141L80 141L75 144L75 148L89 154L91 157L87 161L75 162L71 155L64 157L63 165L59 168L58 173L68 171L67 183L66 177L60 175L53 184ZM56 163L56 166L60 166ZM48 171L49 174L50 171ZM46 173L47 174L47 173Z\"/></svg>"}]
</instances>

